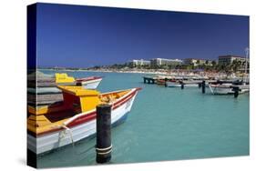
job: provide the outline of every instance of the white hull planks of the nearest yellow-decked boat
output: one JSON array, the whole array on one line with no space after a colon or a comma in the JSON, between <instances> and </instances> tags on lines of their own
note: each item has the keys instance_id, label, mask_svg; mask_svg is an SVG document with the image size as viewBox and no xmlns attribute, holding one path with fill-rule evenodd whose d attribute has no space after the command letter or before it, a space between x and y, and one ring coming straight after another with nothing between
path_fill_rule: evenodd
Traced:
<instances>
[{"instance_id":1,"label":"white hull planks of the nearest yellow-decked boat","mask_svg":"<svg viewBox=\"0 0 256 171\"><path fill-rule=\"evenodd\" d=\"M132 92L135 94L128 98L128 100L122 104L115 106L111 112L111 124L115 125L118 122L124 120L128 115L128 112L131 110L134 99L138 93L138 90L134 88ZM130 95L130 93L128 94ZM126 97L126 96L124 96ZM122 97L123 98L123 97ZM121 100L121 99L120 99ZM89 113L89 112L88 112ZM80 114L84 115L84 114ZM70 119L70 122L76 120L79 116L74 116L74 118ZM68 121L67 121L68 127ZM77 126L68 127L68 129L62 129L56 131L54 133L49 133L43 136L31 136L27 134L27 147L32 152L38 154L42 154L44 152L56 149L60 146L67 146L72 144L72 142L77 142L81 139L87 138L88 136L92 136L96 134L96 118L87 121L85 123L79 124Z\"/></svg>"}]
</instances>

